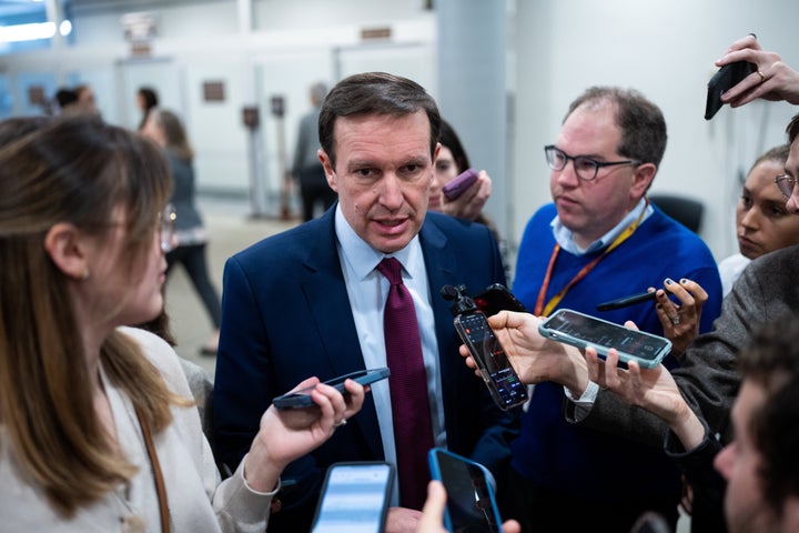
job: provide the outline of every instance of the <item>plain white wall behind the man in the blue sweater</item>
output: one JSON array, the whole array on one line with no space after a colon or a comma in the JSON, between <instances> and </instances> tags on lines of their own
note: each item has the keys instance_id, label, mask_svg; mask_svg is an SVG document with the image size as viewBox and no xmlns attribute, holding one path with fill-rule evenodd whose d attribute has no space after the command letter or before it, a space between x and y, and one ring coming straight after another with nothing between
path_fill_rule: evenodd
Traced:
<instances>
[{"instance_id":1,"label":"plain white wall behind the man in the blue sweater","mask_svg":"<svg viewBox=\"0 0 799 533\"><path fill-rule=\"evenodd\" d=\"M712 62L749 32L799 67L799 2L552 0L518 1L516 9L515 234L549 201L542 147L557 135L569 102L589 86L614 84L638 89L666 117L669 141L653 190L704 201L702 238L717 259L737 251L737 180L759 152L785 142L797 110L725 107L708 122L707 81Z\"/></svg>"}]
</instances>

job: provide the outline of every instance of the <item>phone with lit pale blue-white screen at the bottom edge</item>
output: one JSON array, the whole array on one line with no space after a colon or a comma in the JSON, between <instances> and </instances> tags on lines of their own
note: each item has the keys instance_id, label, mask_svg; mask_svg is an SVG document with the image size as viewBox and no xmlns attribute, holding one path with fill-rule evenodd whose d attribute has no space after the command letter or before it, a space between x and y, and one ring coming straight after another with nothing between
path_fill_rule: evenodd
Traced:
<instances>
[{"instance_id":1,"label":"phone with lit pale blue-white screen at the bottom edge","mask_svg":"<svg viewBox=\"0 0 799 533\"><path fill-rule=\"evenodd\" d=\"M394 466L383 461L332 464L311 531L382 533L393 482Z\"/></svg>"}]
</instances>

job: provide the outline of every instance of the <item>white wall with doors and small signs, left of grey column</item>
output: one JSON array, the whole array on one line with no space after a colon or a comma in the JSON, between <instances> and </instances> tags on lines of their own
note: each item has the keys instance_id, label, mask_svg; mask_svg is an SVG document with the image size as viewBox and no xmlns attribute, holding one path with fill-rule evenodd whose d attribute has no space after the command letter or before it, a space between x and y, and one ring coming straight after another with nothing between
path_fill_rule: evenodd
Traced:
<instances>
[{"instance_id":1,"label":"white wall with doors and small signs, left of grey column","mask_svg":"<svg viewBox=\"0 0 799 533\"><path fill-rule=\"evenodd\" d=\"M130 9L83 9L73 13L72 47L0 57L12 86L40 73L57 84L88 82L105 120L135 127L135 90L150 84L161 105L184 119L196 151L198 188L245 194L250 162L262 170L270 199L280 199L284 162L291 160L296 124L309 110L309 87L333 84L361 70L385 70L419 81L435 95L435 19L422 2L348 0L255 0L251 31L242 31L239 4L230 0L150 8L158 37L150 58L130 56L121 16ZM128 3L130 6L130 3ZM364 42L361 30L392 29L390 42ZM205 102L205 81L222 81L223 102ZM26 88L14 88L17 112ZM272 97L285 99L285 117L271 113ZM251 139L242 109L260 109L261 130ZM254 149L252 149L254 147ZM256 152L256 153L254 153ZM269 214L269 213L259 213Z\"/></svg>"}]
</instances>

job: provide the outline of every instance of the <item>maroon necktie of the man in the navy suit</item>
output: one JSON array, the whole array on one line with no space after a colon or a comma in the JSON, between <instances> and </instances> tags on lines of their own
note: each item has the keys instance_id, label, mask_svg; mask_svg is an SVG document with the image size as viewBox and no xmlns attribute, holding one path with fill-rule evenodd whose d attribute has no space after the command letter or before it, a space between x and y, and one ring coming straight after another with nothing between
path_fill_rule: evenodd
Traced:
<instances>
[{"instance_id":1,"label":"maroon necktie of the man in the navy suit","mask_svg":"<svg viewBox=\"0 0 799 533\"><path fill-rule=\"evenodd\" d=\"M421 510L427 494L427 452L433 447L427 374L422 359L416 309L402 282L402 264L386 258L377 265L391 286L383 316L386 362L391 369L394 444L400 479L400 504Z\"/></svg>"}]
</instances>

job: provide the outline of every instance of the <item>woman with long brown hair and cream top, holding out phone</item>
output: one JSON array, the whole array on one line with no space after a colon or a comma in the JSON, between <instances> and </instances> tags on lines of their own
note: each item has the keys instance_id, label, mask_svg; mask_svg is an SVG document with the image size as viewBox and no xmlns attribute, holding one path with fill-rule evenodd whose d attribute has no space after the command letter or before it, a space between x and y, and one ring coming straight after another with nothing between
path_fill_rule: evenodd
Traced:
<instances>
[{"instance_id":1,"label":"woman with long brown hair and cream top, holding out phone","mask_svg":"<svg viewBox=\"0 0 799 533\"><path fill-rule=\"evenodd\" d=\"M160 150L98 118L0 148L0 529L264 531L283 467L361 409L352 381L270 408L220 481L176 354L124 326L162 309L170 193Z\"/></svg>"}]
</instances>

